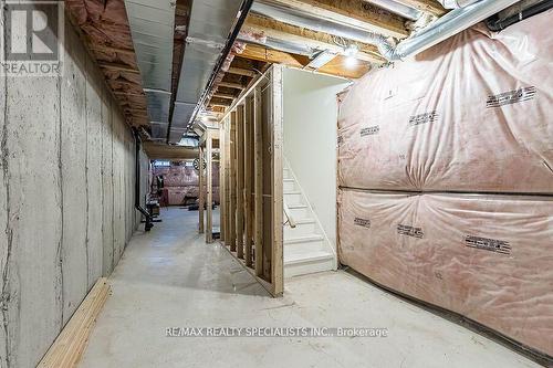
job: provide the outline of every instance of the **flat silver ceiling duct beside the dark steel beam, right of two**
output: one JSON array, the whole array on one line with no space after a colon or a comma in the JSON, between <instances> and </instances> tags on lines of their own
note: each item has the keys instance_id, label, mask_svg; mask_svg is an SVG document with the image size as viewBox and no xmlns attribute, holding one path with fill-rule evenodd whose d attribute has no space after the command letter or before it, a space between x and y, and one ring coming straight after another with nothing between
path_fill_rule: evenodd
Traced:
<instances>
[{"instance_id":1,"label":"flat silver ceiling duct beside the dark steel beam, right of two","mask_svg":"<svg viewBox=\"0 0 553 368\"><path fill-rule=\"evenodd\" d=\"M180 141L218 62L225 57L241 0L195 0L180 70L168 143ZM173 41L173 36L171 36Z\"/></svg>"}]
</instances>

